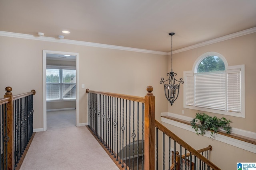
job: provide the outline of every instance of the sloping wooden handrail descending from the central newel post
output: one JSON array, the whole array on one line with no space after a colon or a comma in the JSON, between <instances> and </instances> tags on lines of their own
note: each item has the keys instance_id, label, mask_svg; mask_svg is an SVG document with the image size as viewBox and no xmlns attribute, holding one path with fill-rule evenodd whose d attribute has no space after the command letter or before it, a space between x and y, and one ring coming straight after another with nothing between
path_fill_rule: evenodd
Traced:
<instances>
[{"instance_id":1,"label":"sloping wooden handrail descending from the central newel post","mask_svg":"<svg viewBox=\"0 0 256 170\"><path fill-rule=\"evenodd\" d=\"M166 134L167 136L171 137L174 141L176 141L178 144L180 144L182 147L184 147L186 150L188 150L189 152L191 152L192 154L194 154L195 156L197 156L200 160L202 160L203 162L205 162L206 164L208 164L208 166L210 166L212 169L214 170L220 170L220 168L218 168L218 166L216 166L215 164L213 164L210 160L208 160L207 158L205 158L202 154L200 154L197 150L195 150L194 148L192 148L190 145L188 145L186 142L184 142L182 139L180 139L180 137L178 137L177 135L175 135L174 133L172 133L169 129L167 129L166 127L164 127L164 125L162 125L161 123L159 123L157 120L155 120L155 126L162 131L164 134Z\"/></svg>"}]
</instances>

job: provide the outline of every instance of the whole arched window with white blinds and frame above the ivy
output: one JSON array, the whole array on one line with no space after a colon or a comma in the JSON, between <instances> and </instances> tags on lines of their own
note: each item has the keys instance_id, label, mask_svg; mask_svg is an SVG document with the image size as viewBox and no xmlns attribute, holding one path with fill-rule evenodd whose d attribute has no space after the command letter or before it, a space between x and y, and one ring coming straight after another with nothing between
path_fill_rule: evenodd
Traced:
<instances>
[{"instance_id":1,"label":"whole arched window with white blinds and frame above the ivy","mask_svg":"<svg viewBox=\"0 0 256 170\"><path fill-rule=\"evenodd\" d=\"M185 108L244 117L244 65L228 66L222 55L208 52L184 80Z\"/></svg>"}]
</instances>

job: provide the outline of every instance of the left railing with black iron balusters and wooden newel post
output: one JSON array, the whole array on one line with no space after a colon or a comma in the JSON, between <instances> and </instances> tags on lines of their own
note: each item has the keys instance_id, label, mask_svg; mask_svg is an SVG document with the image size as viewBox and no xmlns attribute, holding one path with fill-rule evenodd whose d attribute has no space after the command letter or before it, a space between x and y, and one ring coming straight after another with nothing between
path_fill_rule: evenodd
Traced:
<instances>
[{"instance_id":1,"label":"left railing with black iron balusters and wooden newel post","mask_svg":"<svg viewBox=\"0 0 256 170\"><path fill-rule=\"evenodd\" d=\"M33 95L31 92L12 95L6 87L0 99L0 169L14 170L33 134Z\"/></svg>"}]
</instances>

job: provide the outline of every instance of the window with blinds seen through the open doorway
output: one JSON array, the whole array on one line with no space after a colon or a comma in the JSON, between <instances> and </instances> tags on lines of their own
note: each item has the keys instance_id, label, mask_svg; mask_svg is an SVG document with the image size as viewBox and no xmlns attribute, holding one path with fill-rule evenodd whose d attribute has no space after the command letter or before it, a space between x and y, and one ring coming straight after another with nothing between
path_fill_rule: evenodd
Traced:
<instances>
[{"instance_id":1,"label":"window with blinds seen through the open doorway","mask_svg":"<svg viewBox=\"0 0 256 170\"><path fill-rule=\"evenodd\" d=\"M75 67L47 66L46 100L75 100Z\"/></svg>"}]
</instances>

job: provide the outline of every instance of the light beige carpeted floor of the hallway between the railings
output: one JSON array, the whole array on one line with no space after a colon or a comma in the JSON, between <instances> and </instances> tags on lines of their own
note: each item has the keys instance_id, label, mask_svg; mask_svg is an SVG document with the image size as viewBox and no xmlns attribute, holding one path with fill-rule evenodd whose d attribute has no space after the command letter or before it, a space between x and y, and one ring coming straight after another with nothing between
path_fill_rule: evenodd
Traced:
<instances>
[{"instance_id":1,"label":"light beige carpeted floor of the hallway between the railings","mask_svg":"<svg viewBox=\"0 0 256 170\"><path fill-rule=\"evenodd\" d=\"M35 134L20 170L119 170L85 126L64 124Z\"/></svg>"}]
</instances>

